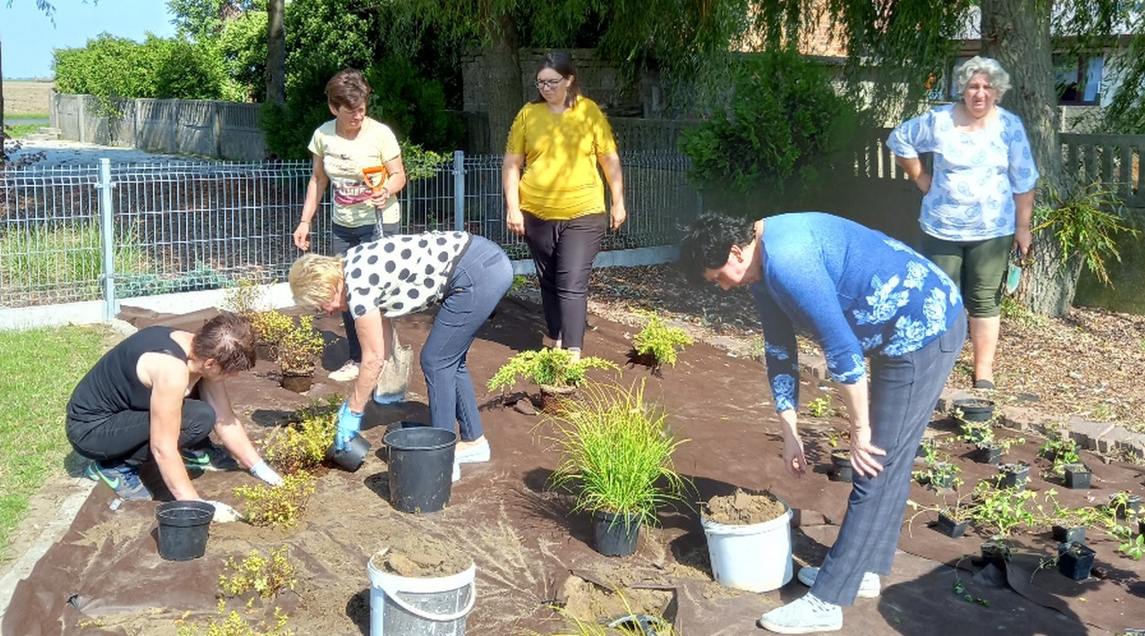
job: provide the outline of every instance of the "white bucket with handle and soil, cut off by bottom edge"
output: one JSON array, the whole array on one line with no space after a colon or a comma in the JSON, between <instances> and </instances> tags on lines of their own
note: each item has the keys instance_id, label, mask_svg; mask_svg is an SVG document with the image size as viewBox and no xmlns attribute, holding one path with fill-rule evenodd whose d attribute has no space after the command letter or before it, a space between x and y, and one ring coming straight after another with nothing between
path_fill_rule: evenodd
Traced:
<instances>
[{"instance_id":1,"label":"white bucket with handle and soil, cut off by bottom edge","mask_svg":"<svg viewBox=\"0 0 1145 636\"><path fill-rule=\"evenodd\" d=\"M370 636L464 636L477 600L477 566L449 576L400 576L370 559Z\"/></svg>"}]
</instances>

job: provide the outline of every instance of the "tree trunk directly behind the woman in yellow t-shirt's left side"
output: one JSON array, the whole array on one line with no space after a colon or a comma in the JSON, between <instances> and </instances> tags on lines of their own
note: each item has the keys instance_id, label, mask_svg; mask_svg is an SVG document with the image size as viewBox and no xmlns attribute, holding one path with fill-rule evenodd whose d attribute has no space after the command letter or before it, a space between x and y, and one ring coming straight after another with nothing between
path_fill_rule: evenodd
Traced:
<instances>
[{"instance_id":1,"label":"tree trunk directly behind the woman in yellow t-shirt's left side","mask_svg":"<svg viewBox=\"0 0 1145 636\"><path fill-rule=\"evenodd\" d=\"M485 78L485 103L489 104L489 139L484 152L500 152L508 138L508 128L521 109L521 60L518 55L516 22L505 11L497 17L490 33L490 45L484 52L489 64Z\"/></svg>"}]
</instances>

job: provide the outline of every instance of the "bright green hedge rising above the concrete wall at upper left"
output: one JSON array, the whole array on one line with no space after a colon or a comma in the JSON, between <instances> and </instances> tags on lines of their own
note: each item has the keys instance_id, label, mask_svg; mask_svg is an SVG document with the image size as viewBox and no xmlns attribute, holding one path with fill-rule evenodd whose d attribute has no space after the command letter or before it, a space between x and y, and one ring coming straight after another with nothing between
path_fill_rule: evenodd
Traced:
<instances>
[{"instance_id":1,"label":"bright green hedge rising above the concrete wall at upper left","mask_svg":"<svg viewBox=\"0 0 1145 636\"><path fill-rule=\"evenodd\" d=\"M143 42L101 33L84 48L56 49L56 89L101 97L214 100L222 64L205 45L148 36Z\"/></svg>"}]
</instances>

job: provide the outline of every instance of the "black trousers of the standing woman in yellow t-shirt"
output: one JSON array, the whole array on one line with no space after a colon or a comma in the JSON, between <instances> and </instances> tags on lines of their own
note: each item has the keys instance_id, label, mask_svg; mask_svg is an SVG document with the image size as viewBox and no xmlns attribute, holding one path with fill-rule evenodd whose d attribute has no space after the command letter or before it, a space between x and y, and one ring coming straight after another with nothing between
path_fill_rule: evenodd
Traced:
<instances>
[{"instance_id":1,"label":"black trousers of the standing woman in yellow t-shirt","mask_svg":"<svg viewBox=\"0 0 1145 636\"><path fill-rule=\"evenodd\" d=\"M550 338L566 348L584 347L589 319L589 275L608 214L586 214L568 221L545 221L524 212L524 242L540 278L540 306Z\"/></svg>"}]
</instances>

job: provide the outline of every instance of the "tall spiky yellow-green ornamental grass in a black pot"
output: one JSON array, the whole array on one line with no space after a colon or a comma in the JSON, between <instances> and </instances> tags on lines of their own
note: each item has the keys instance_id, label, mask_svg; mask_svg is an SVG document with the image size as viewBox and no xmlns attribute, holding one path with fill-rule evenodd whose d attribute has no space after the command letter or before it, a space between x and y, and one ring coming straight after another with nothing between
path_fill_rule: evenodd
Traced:
<instances>
[{"instance_id":1,"label":"tall spiky yellow-green ornamental grass in a black pot","mask_svg":"<svg viewBox=\"0 0 1145 636\"><path fill-rule=\"evenodd\" d=\"M668 414L645 402L645 385L589 384L542 425L562 461L551 484L572 493L574 511L608 512L655 525L656 511L690 488L672 464L681 443Z\"/></svg>"}]
</instances>

